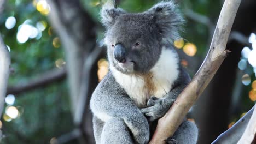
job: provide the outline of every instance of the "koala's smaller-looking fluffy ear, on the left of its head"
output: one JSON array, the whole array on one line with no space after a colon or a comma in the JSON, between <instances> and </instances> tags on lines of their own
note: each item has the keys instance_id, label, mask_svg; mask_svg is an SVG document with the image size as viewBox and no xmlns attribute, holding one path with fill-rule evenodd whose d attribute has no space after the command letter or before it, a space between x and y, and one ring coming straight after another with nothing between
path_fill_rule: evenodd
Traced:
<instances>
[{"instance_id":1,"label":"koala's smaller-looking fluffy ear, on the left of its head","mask_svg":"<svg viewBox=\"0 0 256 144\"><path fill-rule=\"evenodd\" d=\"M113 2L108 1L101 9L101 23L106 26L106 28L110 28L114 25L115 20L122 14L125 14L123 9L115 8Z\"/></svg>"}]
</instances>

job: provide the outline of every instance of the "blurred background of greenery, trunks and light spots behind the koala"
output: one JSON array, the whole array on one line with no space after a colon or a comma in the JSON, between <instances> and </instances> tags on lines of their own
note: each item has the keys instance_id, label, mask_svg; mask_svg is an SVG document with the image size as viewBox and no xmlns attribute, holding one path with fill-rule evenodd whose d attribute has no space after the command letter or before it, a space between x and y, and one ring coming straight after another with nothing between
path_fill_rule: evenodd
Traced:
<instances>
[{"instance_id":1,"label":"blurred background of greenery, trunks and light spots behind the koala","mask_svg":"<svg viewBox=\"0 0 256 144\"><path fill-rule=\"evenodd\" d=\"M108 71L106 49L102 46L104 27L99 19L104 2L5 2L0 32L10 51L11 71L0 121L1 143L94 143L88 99ZM117 4L127 11L139 12L157 2L120 0ZM176 40L174 45L191 77L208 52L223 2L177 1L187 24L182 33L184 39ZM198 143L211 143L255 104L255 7L254 0L242 1L226 46L231 53L189 113L199 127ZM80 69L70 60L75 50L84 53ZM93 63L83 68L90 55ZM73 65L78 69L72 71ZM87 79L83 74L86 70ZM71 75L68 79L67 73ZM77 78L72 77L74 73ZM79 80L79 76L84 79L73 80ZM83 82L87 82L84 93L88 98L74 98L81 95L81 90L79 93L75 88L83 89ZM79 108L80 105L84 106Z\"/></svg>"}]
</instances>

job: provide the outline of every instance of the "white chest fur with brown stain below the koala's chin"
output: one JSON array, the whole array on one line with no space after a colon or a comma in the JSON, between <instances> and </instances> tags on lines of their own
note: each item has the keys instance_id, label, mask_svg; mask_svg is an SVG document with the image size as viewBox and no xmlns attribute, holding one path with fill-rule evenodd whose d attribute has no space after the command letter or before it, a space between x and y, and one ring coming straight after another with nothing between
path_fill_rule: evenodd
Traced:
<instances>
[{"instance_id":1,"label":"white chest fur with brown stain below the koala's chin","mask_svg":"<svg viewBox=\"0 0 256 144\"><path fill-rule=\"evenodd\" d=\"M110 67L115 80L125 89L138 107L145 107L152 97L164 97L170 92L179 75L179 59L176 53L163 47L159 61L147 75L123 74Z\"/></svg>"}]
</instances>

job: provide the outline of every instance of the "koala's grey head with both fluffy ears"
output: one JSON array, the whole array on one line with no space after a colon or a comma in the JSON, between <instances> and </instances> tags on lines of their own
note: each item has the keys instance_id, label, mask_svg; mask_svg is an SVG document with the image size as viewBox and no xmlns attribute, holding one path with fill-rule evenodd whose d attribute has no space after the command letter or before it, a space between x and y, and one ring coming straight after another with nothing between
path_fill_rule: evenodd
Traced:
<instances>
[{"instance_id":1,"label":"koala's grey head with both fluffy ears","mask_svg":"<svg viewBox=\"0 0 256 144\"><path fill-rule=\"evenodd\" d=\"M107 29L104 43L110 67L124 74L148 73L162 47L179 38L184 22L171 1L160 2L143 13L126 13L108 2L101 10L101 20Z\"/></svg>"}]
</instances>

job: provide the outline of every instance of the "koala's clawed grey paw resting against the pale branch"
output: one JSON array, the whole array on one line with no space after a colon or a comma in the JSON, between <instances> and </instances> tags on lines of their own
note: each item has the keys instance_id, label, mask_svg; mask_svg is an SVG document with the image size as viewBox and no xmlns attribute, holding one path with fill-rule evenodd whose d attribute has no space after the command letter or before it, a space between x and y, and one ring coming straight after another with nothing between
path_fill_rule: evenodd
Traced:
<instances>
[{"instance_id":1,"label":"koala's clawed grey paw resting against the pale branch","mask_svg":"<svg viewBox=\"0 0 256 144\"><path fill-rule=\"evenodd\" d=\"M164 116L173 102L174 99L167 101L164 98L151 97L147 103L148 107L141 109L141 112L148 118L149 122L152 122Z\"/></svg>"}]
</instances>

